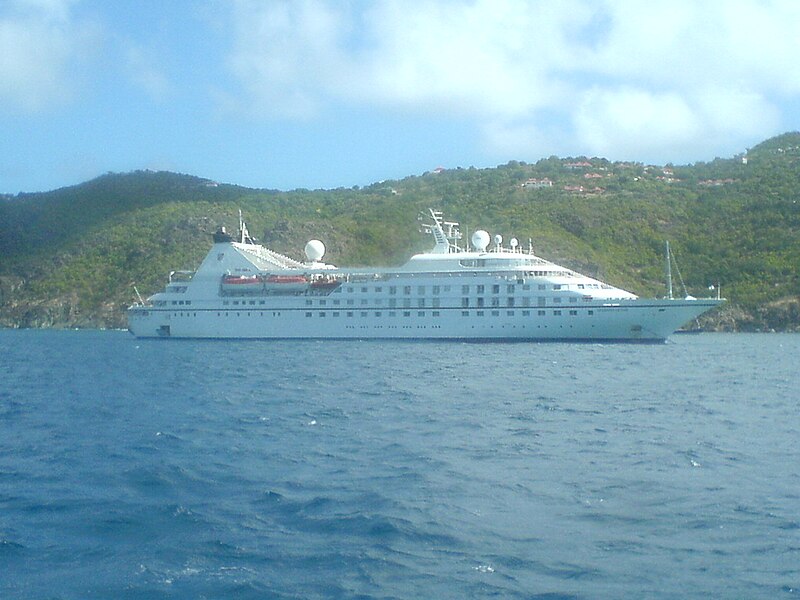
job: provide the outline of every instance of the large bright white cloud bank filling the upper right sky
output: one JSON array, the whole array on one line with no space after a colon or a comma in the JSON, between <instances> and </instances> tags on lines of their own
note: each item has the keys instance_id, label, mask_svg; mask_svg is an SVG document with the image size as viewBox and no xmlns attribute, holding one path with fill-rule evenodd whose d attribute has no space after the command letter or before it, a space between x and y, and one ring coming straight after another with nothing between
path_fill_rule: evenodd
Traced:
<instances>
[{"instance_id":1,"label":"large bright white cloud bank filling the upper right sky","mask_svg":"<svg viewBox=\"0 0 800 600\"><path fill-rule=\"evenodd\" d=\"M800 93L793 0L241 0L234 24L250 115L441 114L518 152L569 138L678 161L776 133Z\"/></svg>"}]
</instances>

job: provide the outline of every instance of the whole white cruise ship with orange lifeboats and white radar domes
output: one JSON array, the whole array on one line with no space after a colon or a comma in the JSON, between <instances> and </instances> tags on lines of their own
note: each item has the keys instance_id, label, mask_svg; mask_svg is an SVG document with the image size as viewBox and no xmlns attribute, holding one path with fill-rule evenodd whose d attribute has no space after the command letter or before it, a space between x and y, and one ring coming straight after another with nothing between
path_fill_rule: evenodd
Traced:
<instances>
[{"instance_id":1,"label":"whole white cruise ship with orange lifeboats and white radar domes","mask_svg":"<svg viewBox=\"0 0 800 600\"><path fill-rule=\"evenodd\" d=\"M239 218L194 272L128 309L140 338L663 342L723 300L660 299L581 275L516 239L421 215L433 248L399 267L337 268L311 240L298 261L259 244ZM671 289L671 287L670 287Z\"/></svg>"}]
</instances>

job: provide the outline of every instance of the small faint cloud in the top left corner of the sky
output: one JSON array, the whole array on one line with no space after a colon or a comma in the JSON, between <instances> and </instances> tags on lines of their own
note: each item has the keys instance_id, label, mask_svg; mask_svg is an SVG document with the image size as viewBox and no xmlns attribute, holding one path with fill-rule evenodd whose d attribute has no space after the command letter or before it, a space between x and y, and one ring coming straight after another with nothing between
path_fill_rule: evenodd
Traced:
<instances>
[{"instance_id":1,"label":"small faint cloud in the top left corner of the sky","mask_svg":"<svg viewBox=\"0 0 800 600\"><path fill-rule=\"evenodd\" d=\"M70 67L86 55L93 26L70 19L69 0L17 0L0 9L0 99L36 112L72 94Z\"/></svg>"}]
</instances>

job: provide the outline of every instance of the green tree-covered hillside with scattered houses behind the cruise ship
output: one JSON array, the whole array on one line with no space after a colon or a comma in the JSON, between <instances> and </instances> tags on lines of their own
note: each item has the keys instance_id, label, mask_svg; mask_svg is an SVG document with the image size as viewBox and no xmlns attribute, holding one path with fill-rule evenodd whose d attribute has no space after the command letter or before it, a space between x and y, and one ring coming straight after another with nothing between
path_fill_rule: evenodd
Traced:
<instances>
[{"instance_id":1,"label":"green tree-covered hillside with scattered houses behind the cruise ship","mask_svg":"<svg viewBox=\"0 0 800 600\"><path fill-rule=\"evenodd\" d=\"M550 157L437 170L364 188L254 190L167 172L106 174L0 196L0 325L124 327L136 289L193 269L241 209L251 233L302 256L325 242L339 265L401 264L430 245L417 214L436 207L477 228L642 296L664 294L670 241L688 292L722 285L726 329L800 328L800 133L685 166ZM676 285L679 283L676 281ZM681 290L682 291L682 290Z\"/></svg>"}]
</instances>

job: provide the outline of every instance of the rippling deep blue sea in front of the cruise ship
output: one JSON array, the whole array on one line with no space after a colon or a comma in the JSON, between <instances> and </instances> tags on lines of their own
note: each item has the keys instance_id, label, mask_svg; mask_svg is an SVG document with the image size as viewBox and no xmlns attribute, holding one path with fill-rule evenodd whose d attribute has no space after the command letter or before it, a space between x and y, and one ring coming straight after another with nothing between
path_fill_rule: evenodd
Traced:
<instances>
[{"instance_id":1,"label":"rippling deep blue sea in front of the cruise ship","mask_svg":"<svg viewBox=\"0 0 800 600\"><path fill-rule=\"evenodd\" d=\"M3 599L800 597L800 335L0 349Z\"/></svg>"}]
</instances>

